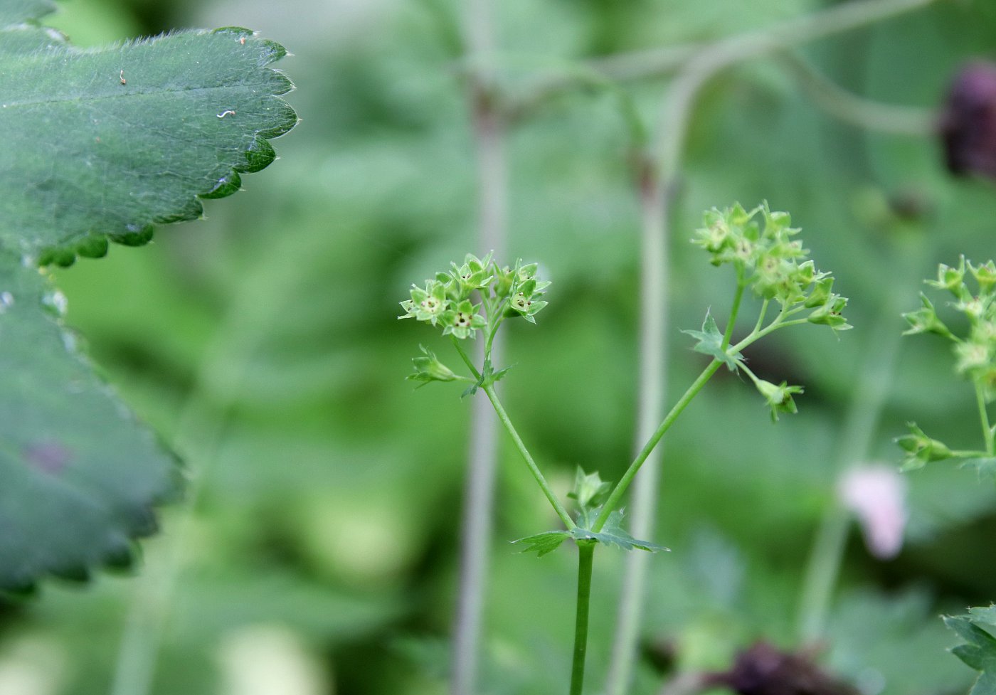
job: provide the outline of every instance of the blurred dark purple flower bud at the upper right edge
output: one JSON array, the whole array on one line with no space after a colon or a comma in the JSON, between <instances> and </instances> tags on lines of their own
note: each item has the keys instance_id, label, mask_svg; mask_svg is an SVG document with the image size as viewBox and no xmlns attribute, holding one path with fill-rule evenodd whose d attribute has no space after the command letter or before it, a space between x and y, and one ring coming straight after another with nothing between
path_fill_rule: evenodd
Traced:
<instances>
[{"instance_id":1,"label":"blurred dark purple flower bud at the upper right edge","mask_svg":"<svg viewBox=\"0 0 996 695\"><path fill-rule=\"evenodd\" d=\"M996 178L996 65L977 62L958 73L940 121L947 168Z\"/></svg>"}]
</instances>

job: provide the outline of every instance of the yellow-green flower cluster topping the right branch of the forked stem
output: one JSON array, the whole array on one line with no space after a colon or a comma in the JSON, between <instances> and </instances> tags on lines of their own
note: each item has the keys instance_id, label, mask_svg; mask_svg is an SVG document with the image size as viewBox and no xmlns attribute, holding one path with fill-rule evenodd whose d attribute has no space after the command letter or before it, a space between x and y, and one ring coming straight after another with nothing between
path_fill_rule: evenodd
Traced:
<instances>
[{"instance_id":1,"label":"yellow-green flower cluster topping the right branch of the forked stem","mask_svg":"<svg viewBox=\"0 0 996 695\"><path fill-rule=\"evenodd\" d=\"M851 328L842 316L848 304L832 292L834 278L807 260L809 251L792 237L787 212L772 212L767 204L747 211L738 203L732 208L713 208L705 213L704 227L692 243L712 254L712 265L730 263L737 278L756 295L777 300L783 308L801 305L813 311L807 320L835 330Z\"/></svg>"}]
</instances>

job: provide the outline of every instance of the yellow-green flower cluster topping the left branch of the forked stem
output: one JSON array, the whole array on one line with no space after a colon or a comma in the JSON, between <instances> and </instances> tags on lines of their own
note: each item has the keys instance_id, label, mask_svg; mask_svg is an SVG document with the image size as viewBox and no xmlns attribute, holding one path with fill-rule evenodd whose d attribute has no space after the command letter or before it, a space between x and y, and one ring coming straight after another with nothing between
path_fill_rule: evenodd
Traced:
<instances>
[{"instance_id":1,"label":"yellow-green flower cluster topping the left branch of the forked stem","mask_svg":"<svg viewBox=\"0 0 996 695\"><path fill-rule=\"evenodd\" d=\"M425 287L411 286L411 298L402 301L404 314L398 319L415 319L441 326L443 336L460 340L474 338L478 330L497 328L500 318L522 317L535 324L535 317L547 303L539 298L549 282L536 279L537 264L499 268L488 254L479 259L467 254L463 265L450 263L446 273L436 273ZM473 293L482 303L474 304ZM480 312L484 308L483 316Z\"/></svg>"}]
</instances>

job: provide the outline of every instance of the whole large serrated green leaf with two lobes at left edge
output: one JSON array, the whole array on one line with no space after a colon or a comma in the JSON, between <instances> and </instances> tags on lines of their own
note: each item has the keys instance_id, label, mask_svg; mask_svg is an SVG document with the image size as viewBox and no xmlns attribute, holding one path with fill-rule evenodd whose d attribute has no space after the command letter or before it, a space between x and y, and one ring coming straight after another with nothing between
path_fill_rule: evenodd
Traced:
<instances>
[{"instance_id":1,"label":"whole large serrated green leaf with two lobes at left edge","mask_svg":"<svg viewBox=\"0 0 996 695\"><path fill-rule=\"evenodd\" d=\"M178 469L81 356L39 265L141 244L274 159L297 121L246 29L79 50L0 0L0 590L124 565Z\"/></svg>"}]
</instances>

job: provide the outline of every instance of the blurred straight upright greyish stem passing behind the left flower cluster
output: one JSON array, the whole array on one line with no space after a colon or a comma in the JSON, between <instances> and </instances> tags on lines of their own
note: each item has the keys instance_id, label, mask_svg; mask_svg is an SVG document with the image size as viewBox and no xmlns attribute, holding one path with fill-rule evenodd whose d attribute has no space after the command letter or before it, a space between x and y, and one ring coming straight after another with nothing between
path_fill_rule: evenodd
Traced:
<instances>
[{"instance_id":1,"label":"blurred straight upright greyish stem passing behind the left flower cluster","mask_svg":"<svg viewBox=\"0 0 996 695\"><path fill-rule=\"evenodd\" d=\"M492 0L468 0L464 15L464 56L467 103L477 156L477 249L505 255L508 218L508 167L505 159L505 123L500 110L495 75L495 37ZM491 346L500 363L502 340ZM475 345L482 361L483 345ZM487 592L488 558L494 517L495 473L498 467L498 423L485 398L472 399L467 477L461 513L460 579L453 635L453 695L476 692L480 660L481 617Z\"/></svg>"}]
</instances>

